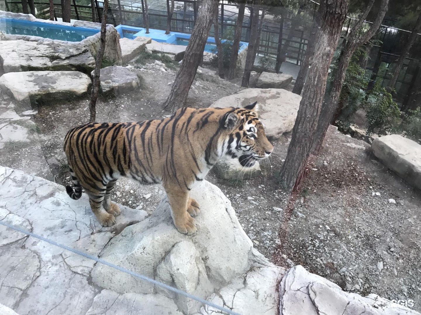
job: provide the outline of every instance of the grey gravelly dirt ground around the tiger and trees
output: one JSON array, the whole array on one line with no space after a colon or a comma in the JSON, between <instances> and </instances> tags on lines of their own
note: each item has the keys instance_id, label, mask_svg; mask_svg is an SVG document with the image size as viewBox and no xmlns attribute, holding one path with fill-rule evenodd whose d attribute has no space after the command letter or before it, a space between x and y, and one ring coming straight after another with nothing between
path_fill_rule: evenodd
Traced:
<instances>
[{"instance_id":1,"label":"grey gravelly dirt ground around the tiger and trees","mask_svg":"<svg viewBox=\"0 0 421 315\"><path fill-rule=\"evenodd\" d=\"M161 108L176 70L146 66L138 71L143 78L141 90L101 98L97 121L138 121L170 114ZM252 76L250 87L256 78ZM201 74L189 92L187 106L207 107L240 89ZM39 143L45 160L55 157L65 165L64 135L88 117L88 97L38 108L34 118L41 129ZM289 196L278 184L278 176L289 141L290 134L284 134L273 142L272 157L261 165L262 176L238 181L220 179L212 171L207 176L231 200L254 246L278 265L301 264L346 291L402 299L408 306L408 300L413 300L412 308L421 311L420 192L379 163L368 144L330 128L322 151L308 166L303 191L287 212ZM16 160L25 158L24 150L2 154L0 165L13 167ZM56 179L69 183L69 174ZM163 196L159 185L140 186L122 179L112 197L150 213Z\"/></svg>"}]
</instances>

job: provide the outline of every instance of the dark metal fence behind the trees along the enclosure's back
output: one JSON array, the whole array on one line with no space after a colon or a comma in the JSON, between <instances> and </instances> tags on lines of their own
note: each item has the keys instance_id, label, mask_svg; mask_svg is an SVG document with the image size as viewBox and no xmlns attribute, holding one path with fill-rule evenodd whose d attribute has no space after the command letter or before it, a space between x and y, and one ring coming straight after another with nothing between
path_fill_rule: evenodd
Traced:
<instances>
[{"instance_id":1,"label":"dark metal fence behind the trees along the enclosure's back","mask_svg":"<svg viewBox=\"0 0 421 315\"><path fill-rule=\"evenodd\" d=\"M21 2L5 1L5 7L8 11L21 12ZM56 3L57 2L57 3ZM228 3L226 0L220 1L220 36L229 37L234 34L234 29L237 24L237 5ZM96 21L101 21L103 2L93 0L95 5L91 7L91 0L71 0L71 18L84 21L92 21L93 15ZM49 3L35 2L39 12L40 18L49 18ZM197 12L200 8L200 0L180 0L175 1L175 8L171 18L171 30L176 32L191 33L197 18ZM292 20L286 17L282 27L277 18L271 18L271 21L265 21L263 24L262 34L260 38L260 45L258 47L258 56L266 57L272 60L272 69L275 65L277 56L277 48L280 43L279 35L282 32L282 47L285 47L287 53L287 61L301 65L304 58L312 19L317 12L319 4L313 0L300 0L300 8L303 10L307 20L306 25L300 24L295 29L291 29ZM61 3L55 1L56 18L61 17ZM167 19L170 12L169 0L148 0L149 8L149 27L154 29L166 29ZM241 40L248 42L250 36L251 25L251 8L246 7L246 14L242 24ZM110 24L129 25L144 27L145 21L145 4L144 0L110 0L109 14L107 21ZM346 37L349 30L357 22L353 17L347 17L341 32L342 37ZM364 22L363 27L368 27L370 22ZM130 31L125 31L130 33ZM380 45L374 45L370 53L370 62L367 65L368 74L371 79L382 79L384 85L390 79L390 72L393 72L394 66L400 55L402 44L408 38L410 32L382 25L376 34L375 39L381 42ZM210 31L210 36L213 35L213 28ZM399 104L405 104L408 100L408 95L411 90L415 88L414 81L419 73L418 61L421 58L421 35L418 34L415 44L413 45L408 58L406 58L404 66L402 67L397 84L395 86L397 94L395 100ZM381 64L386 63L386 68L389 72L379 73ZM384 68L384 67L383 67Z\"/></svg>"}]
</instances>

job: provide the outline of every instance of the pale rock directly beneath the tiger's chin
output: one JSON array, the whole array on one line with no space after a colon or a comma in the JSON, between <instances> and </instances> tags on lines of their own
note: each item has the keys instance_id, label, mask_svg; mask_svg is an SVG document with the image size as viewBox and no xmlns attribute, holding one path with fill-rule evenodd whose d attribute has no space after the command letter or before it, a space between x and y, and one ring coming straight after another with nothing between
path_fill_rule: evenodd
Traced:
<instances>
[{"instance_id":1,"label":"pale rock directly beneath the tiger's chin","mask_svg":"<svg viewBox=\"0 0 421 315\"><path fill-rule=\"evenodd\" d=\"M221 160L215 164L213 171L220 178L228 180L243 180L261 175L261 169L258 162L252 167L243 167L238 159Z\"/></svg>"}]
</instances>

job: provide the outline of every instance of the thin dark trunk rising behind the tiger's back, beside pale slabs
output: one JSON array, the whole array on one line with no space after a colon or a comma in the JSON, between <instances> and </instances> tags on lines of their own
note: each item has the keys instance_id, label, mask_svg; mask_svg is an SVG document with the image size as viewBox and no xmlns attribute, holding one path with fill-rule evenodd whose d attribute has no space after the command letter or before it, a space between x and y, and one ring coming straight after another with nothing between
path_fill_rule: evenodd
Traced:
<instances>
[{"instance_id":1,"label":"thin dark trunk rising behind the tiger's back, beside pale slabs","mask_svg":"<svg viewBox=\"0 0 421 315\"><path fill-rule=\"evenodd\" d=\"M89 102L89 122L94 123L96 121L96 100L98 98L99 92L99 74L101 71L102 58L104 57L105 50L105 35L107 33L107 13L108 13L108 0L104 0L104 10L102 11L101 19L101 45L99 46L98 55L96 56L95 61L95 75L92 80L92 90L91 90L91 102Z\"/></svg>"}]
</instances>

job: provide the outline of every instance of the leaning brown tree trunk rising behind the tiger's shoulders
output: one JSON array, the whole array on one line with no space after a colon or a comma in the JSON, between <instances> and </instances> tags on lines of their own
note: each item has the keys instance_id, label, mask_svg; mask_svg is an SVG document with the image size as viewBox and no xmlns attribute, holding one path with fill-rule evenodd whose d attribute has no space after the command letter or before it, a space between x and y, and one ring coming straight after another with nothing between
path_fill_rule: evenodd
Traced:
<instances>
[{"instance_id":1,"label":"leaning brown tree trunk rising behind the tiger's shoulders","mask_svg":"<svg viewBox=\"0 0 421 315\"><path fill-rule=\"evenodd\" d=\"M218 7L218 1L204 0L202 3L192 36L184 53L183 62L171 87L170 95L164 103L166 110L178 109L187 100L189 89L195 79L197 67L203 58L203 51L208 40L216 7Z\"/></svg>"}]
</instances>

